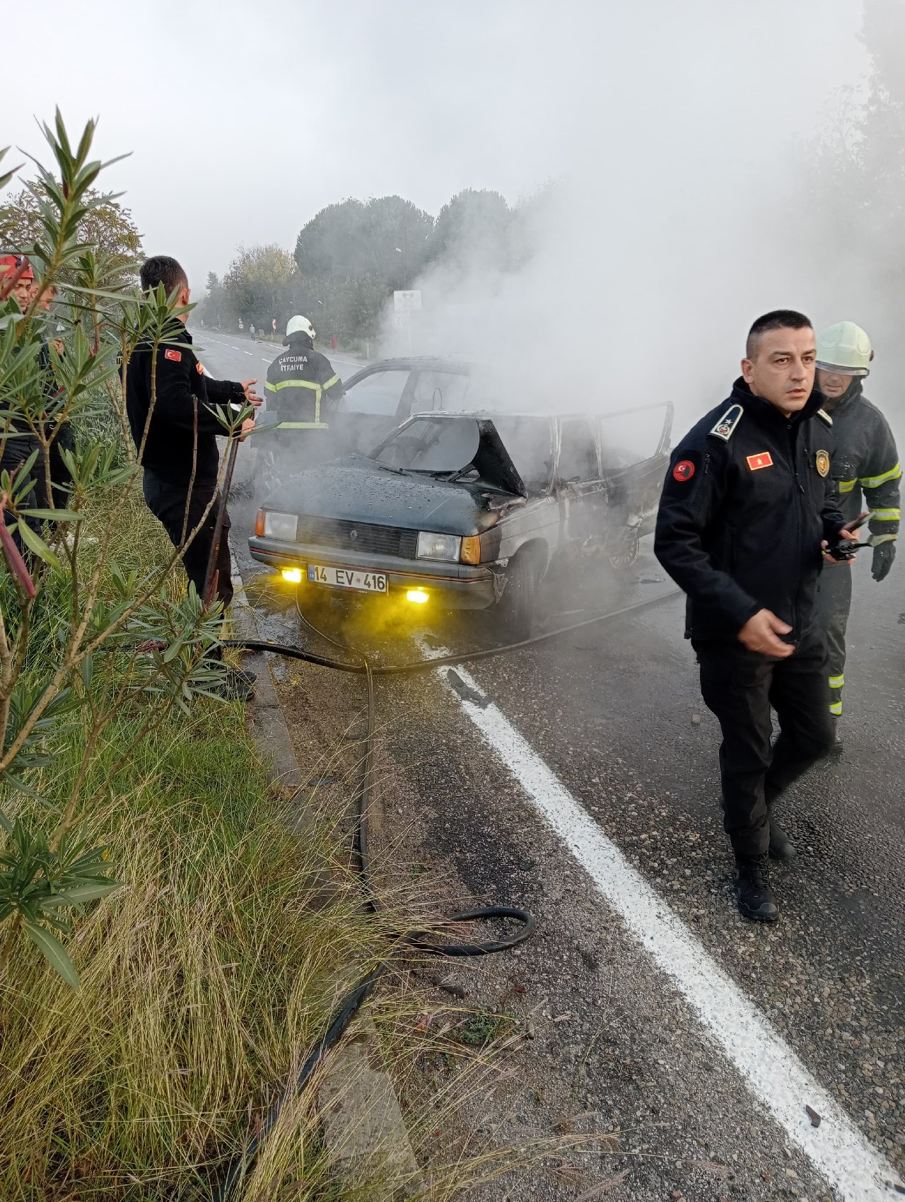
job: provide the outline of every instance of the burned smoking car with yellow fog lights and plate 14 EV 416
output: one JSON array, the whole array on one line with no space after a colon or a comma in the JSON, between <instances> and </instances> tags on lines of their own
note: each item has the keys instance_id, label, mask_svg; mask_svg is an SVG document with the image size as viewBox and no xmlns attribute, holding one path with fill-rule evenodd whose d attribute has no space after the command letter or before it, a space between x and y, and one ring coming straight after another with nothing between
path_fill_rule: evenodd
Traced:
<instances>
[{"instance_id":1,"label":"burned smoking car with yellow fog lights and plate 14 EV 416","mask_svg":"<svg viewBox=\"0 0 905 1202\"><path fill-rule=\"evenodd\" d=\"M415 413L369 456L280 486L251 555L308 589L495 607L526 637L552 564L588 548L630 563L653 530L672 406L651 407L666 409L656 450L627 464L608 456L602 417Z\"/></svg>"}]
</instances>

